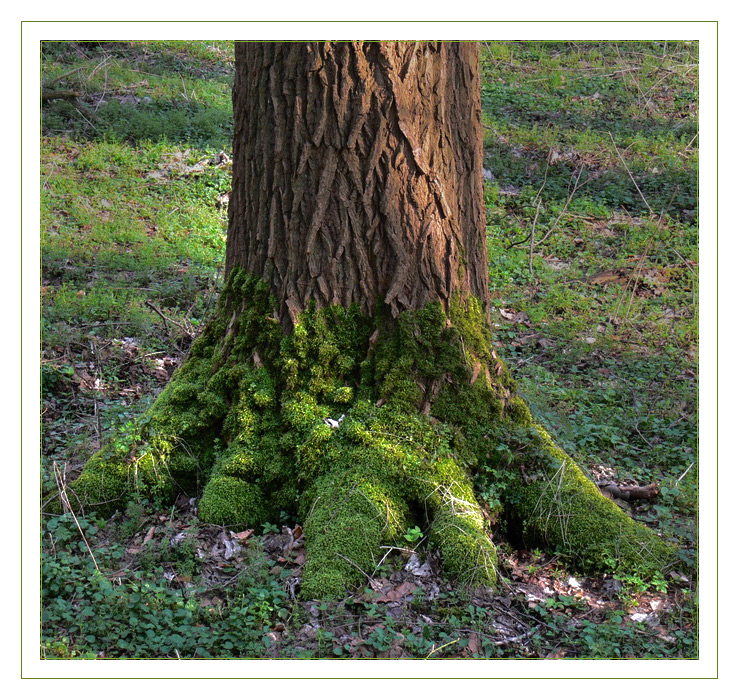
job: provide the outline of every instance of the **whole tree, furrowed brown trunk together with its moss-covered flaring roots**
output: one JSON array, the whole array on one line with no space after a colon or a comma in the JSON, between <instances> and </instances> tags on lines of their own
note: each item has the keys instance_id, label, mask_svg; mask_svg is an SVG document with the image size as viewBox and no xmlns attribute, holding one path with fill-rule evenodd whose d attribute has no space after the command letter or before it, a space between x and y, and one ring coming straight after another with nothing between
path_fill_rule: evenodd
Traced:
<instances>
[{"instance_id":1,"label":"whole tree, furrowed brown trunk together with its moss-covered flaring roots","mask_svg":"<svg viewBox=\"0 0 739 700\"><path fill-rule=\"evenodd\" d=\"M218 311L78 501L194 489L211 522L297 513L306 597L343 594L412 524L468 583L495 581L496 523L583 567L669 564L495 353L476 46L239 43L234 114Z\"/></svg>"}]
</instances>

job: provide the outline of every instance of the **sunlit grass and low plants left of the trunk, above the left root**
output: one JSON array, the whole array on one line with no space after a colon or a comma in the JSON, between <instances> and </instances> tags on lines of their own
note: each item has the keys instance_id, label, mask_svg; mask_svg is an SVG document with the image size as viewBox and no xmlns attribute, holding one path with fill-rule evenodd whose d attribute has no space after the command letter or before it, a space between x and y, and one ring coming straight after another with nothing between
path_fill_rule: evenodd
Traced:
<instances>
[{"instance_id":1,"label":"sunlit grass and low plants left of the trunk, above the left root","mask_svg":"<svg viewBox=\"0 0 739 700\"><path fill-rule=\"evenodd\" d=\"M217 296L233 57L47 42L43 59L44 89L78 96L44 104L41 238L43 454L76 467L166 383Z\"/></svg>"}]
</instances>

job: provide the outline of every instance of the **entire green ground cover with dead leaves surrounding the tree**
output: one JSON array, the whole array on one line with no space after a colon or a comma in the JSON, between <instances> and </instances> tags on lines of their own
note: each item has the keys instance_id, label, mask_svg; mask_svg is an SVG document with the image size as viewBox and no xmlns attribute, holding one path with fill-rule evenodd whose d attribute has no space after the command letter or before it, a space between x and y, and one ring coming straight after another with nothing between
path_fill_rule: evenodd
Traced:
<instances>
[{"instance_id":1,"label":"entire green ground cover with dead leaves surrounding the tree","mask_svg":"<svg viewBox=\"0 0 739 700\"><path fill-rule=\"evenodd\" d=\"M481 46L500 354L537 420L678 543L688 569L696 54L690 43ZM43 55L48 492L100 444L125 446L218 296L233 56L218 42L51 43ZM492 513L500 494L485 476L478 498ZM293 513L231 532L200 523L196 506L44 519L46 658L696 653L694 582L681 571L588 578L520 542L499 545L496 591L465 591L441 578L419 523L351 595L306 602Z\"/></svg>"}]
</instances>

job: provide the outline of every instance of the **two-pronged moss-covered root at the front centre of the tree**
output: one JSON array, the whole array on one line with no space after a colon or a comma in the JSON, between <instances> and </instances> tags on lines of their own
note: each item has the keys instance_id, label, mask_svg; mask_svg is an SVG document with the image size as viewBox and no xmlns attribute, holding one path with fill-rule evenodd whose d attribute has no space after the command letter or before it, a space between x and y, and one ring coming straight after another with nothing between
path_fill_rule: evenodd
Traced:
<instances>
[{"instance_id":1,"label":"two-pronged moss-covered root at the front centre of the tree","mask_svg":"<svg viewBox=\"0 0 739 700\"><path fill-rule=\"evenodd\" d=\"M418 517L450 576L493 585L495 549L469 475L428 419L358 404L326 438L332 449L317 458L323 473L301 499L311 562L304 595L335 597L361 583L374 572L380 545L398 540Z\"/></svg>"}]
</instances>

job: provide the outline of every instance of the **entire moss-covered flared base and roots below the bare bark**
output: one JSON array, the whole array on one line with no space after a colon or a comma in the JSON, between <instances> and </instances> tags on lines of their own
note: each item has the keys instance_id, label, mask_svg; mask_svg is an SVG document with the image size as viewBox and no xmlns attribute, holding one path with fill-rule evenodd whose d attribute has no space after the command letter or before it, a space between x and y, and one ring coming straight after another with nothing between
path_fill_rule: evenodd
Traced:
<instances>
[{"instance_id":1,"label":"entire moss-covered flared base and roots below the bare bark","mask_svg":"<svg viewBox=\"0 0 739 700\"><path fill-rule=\"evenodd\" d=\"M417 523L450 577L493 585L473 477L499 482L524 538L579 562L656 569L671 558L533 424L475 299L376 325L356 309L311 307L289 335L272 309L263 282L231 276L128 452L100 453L72 485L82 503L115 508L133 491L190 488L208 522L297 514L307 598L361 584L382 545L403 544Z\"/></svg>"}]
</instances>

